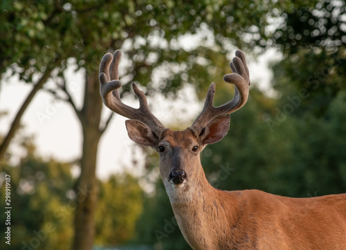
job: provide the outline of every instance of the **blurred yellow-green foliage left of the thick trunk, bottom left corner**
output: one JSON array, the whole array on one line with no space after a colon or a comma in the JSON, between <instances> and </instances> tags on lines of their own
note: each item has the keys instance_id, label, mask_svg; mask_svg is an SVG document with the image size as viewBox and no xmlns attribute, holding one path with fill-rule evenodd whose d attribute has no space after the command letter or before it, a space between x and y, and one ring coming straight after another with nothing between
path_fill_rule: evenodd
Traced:
<instances>
[{"instance_id":1,"label":"blurred yellow-green foliage left of the thick trunk, bottom left corner","mask_svg":"<svg viewBox=\"0 0 346 250\"><path fill-rule=\"evenodd\" d=\"M5 174L11 180L11 244L1 241L1 249L68 249L73 235L74 201L70 195L71 165L53 159L42 160L33 154L33 144L18 165L1 162L0 204L5 207ZM1 213L0 220L6 215ZM1 231L5 230L1 223ZM20 240L19 240L20 239Z\"/></svg>"}]
</instances>

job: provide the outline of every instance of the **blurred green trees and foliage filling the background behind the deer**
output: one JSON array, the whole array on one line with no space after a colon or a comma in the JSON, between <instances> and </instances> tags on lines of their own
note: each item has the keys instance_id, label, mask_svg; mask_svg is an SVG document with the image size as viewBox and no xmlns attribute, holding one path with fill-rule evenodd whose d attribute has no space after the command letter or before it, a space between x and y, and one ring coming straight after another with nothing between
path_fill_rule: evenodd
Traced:
<instances>
[{"instance_id":1,"label":"blurred green trees and foliage filling the background behind the deer","mask_svg":"<svg viewBox=\"0 0 346 250\"><path fill-rule=\"evenodd\" d=\"M193 86L202 101L210 82L230 73L235 48L250 58L275 49L281 56L271 65L270 91L252 82L248 103L231 115L228 135L203 151L208 180L218 189L291 197L346 192L345 1L5 0L0 8L1 85L10 72L33 86L10 131L0 135L0 206L6 206L8 174L14 208L11 244L2 235L1 249L190 249L151 149L143 149L141 175L95 175L98 142L114 116L101 117L98 65L115 49L126 65L122 97L139 81L146 95L171 99ZM186 35L198 38L190 48L181 43ZM66 87L69 58L84 70L81 108ZM55 84L46 86L48 79ZM217 84L216 105L233 96L225 86ZM40 156L35 135L25 133L21 116L39 91L62 99L78 117L78 160ZM6 116L1 111L0 119ZM174 120L170 126L185 128ZM77 177L73 166L80 169ZM0 213L1 232L5 220Z\"/></svg>"}]
</instances>

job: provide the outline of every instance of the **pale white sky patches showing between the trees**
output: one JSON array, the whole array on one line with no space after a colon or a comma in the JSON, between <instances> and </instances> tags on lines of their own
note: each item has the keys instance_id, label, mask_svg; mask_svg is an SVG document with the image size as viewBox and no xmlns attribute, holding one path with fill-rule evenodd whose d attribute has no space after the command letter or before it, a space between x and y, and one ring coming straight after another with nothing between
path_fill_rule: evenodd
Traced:
<instances>
[{"instance_id":1,"label":"pale white sky patches showing between the trees","mask_svg":"<svg viewBox=\"0 0 346 250\"><path fill-rule=\"evenodd\" d=\"M280 59L280 53L276 50L268 50L257 60L247 59L251 82L258 84L262 90L270 91L272 73L267 65L268 61L273 59ZM75 73L73 66L69 68L67 74L73 97L76 103L81 105L83 75L81 72ZM216 82L216 84L223 83ZM0 119L1 134L7 133L13 117L31 88L32 85L20 82L17 77L1 81L0 111L8 112L6 117ZM181 121L184 119L193 120L200 112L203 104L197 101L192 88L186 88L181 95L188 98L174 102L167 102L163 97L148 99L149 103L156 102L158 105L155 106L160 107L160 110L152 110L152 112L164 125L169 124L170 121L176 123L176 119ZM182 114L179 108L185 108L188 113ZM110 173L122 171L124 165L131 169L129 159L133 153L132 146L134 143L127 137L126 118L120 117L120 115L116 115L115 118L102 135L98 148L97 175L101 178L106 178ZM82 137L78 119L69 104L54 101L53 97L44 90L37 93L24 113L21 123L26 127L24 129L26 134L35 135L38 155L55 157L62 161L70 161L80 156ZM17 148L13 148L13 151L17 151ZM17 151L16 154L19 156L20 152Z\"/></svg>"}]
</instances>

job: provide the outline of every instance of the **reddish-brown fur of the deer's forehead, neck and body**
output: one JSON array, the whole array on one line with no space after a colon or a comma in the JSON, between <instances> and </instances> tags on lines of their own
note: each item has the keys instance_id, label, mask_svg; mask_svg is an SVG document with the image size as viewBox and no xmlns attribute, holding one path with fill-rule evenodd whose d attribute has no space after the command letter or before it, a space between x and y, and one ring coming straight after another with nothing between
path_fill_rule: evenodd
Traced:
<instances>
[{"instance_id":1,"label":"reddish-brown fur of the deer's forehead, neck and body","mask_svg":"<svg viewBox=\"0 0 346 250\"><path fill-rule=\"evenodd\" d=\"M161 177L193 249L346 249L346 194L286 198L258 190L220 191L206 180L199 153L190 153L197 138L189 129L166 130L160 141L170 145L161 157ZM179 156L172 155L177 148ZM167 183L174 160L188 173L181 189Z\"/></svg>"}]
</instances>

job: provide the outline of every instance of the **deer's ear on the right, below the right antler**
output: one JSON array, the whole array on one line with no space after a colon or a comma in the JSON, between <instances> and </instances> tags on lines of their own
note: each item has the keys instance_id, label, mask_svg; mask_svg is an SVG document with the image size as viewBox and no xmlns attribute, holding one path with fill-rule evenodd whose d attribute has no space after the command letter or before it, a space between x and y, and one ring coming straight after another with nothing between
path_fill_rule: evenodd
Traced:
<instances>
[{"instance_id":1,"label":"deer's ear on the right, below the right antler","mask_svg":"<svg viewBox=\"0 0 346 250\"><path fill-rule=\"evenodd\" d=\"M212 119L200 135L203 145L219 142L227 134L230 128L230 115L219 115Z\"/></svg>"}]
</instances>

